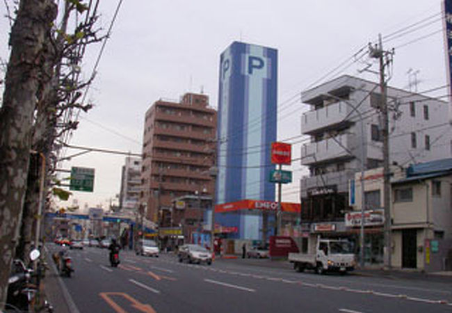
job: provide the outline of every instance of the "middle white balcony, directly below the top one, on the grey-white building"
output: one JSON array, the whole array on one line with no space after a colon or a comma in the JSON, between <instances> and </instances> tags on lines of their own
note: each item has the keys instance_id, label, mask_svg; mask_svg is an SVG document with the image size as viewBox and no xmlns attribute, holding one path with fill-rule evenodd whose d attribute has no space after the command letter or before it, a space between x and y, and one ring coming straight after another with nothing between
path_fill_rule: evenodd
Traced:
<instances>
[{"instance_id":1,"label":"middle white balcony, directly below the top one, on the grey-white building","mask_svg":"<svg viewBox=\"0 0 452 313\"><path fill-rule=\"evenodd\" d=\"M350 155L348 151L356 150L356 139L353 134L342 134L335 138L307 143L301 147L301 163L304 166L309 166L323 161L353 158L353 155Z\"/></svg>"}]
</instances>

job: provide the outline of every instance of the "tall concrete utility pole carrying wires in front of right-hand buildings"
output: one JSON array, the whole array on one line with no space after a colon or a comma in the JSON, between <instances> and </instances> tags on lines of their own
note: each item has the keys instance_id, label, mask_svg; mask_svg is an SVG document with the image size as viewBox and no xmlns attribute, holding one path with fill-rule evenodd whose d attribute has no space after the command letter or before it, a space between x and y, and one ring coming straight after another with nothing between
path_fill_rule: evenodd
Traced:
<instances>
[{"instance_id":1,"label":"tall concrete utility pole carrying wires in front of right-hand buildings","mask_svg":"<svg viewBox=\"0 0 452 313\"><path fill-rule=\"evenodd\" d=\"M385 81L385 67L392 62L394 51L383 51L381 34L378 35L378 46L372 47L369 44L369 54L371 58L377 58L380 63L380 112L382 116L382 137L383 137L383 198L385 204L385 267L392 267L392 235L391 235L391 172L389 170L389 122L387 109L387 86Z\"/></svg>"}]
</instances>

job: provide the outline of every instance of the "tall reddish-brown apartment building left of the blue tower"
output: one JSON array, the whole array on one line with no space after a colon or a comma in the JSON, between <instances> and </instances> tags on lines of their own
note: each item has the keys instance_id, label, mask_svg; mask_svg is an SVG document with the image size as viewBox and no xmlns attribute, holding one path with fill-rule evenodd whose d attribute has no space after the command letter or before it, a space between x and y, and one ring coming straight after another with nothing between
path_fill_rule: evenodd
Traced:
<instances>
[{"instance_id":1,"label":"tall reddish-brown apartment building left of the blue tower","mask_svg":"<svg viewBox=\"0 0 452 313\"><path fill-rule=\"evenodd\" d=\"M216 122L216 110L203 94L186 93L179 102L159 99L147 110L140 204L146 204L152 222L170 220L174 198L213 194L209 168L215 161Z\"/></svg>"}]
</instances>

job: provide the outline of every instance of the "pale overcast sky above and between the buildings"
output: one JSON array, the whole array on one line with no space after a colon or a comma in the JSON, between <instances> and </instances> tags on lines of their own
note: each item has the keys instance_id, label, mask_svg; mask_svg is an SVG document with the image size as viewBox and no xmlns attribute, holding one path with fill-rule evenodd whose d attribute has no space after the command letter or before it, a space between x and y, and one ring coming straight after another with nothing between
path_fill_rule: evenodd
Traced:
<instances>
[{"instance_id":1,"label":"pale overcast sky above and between the buildings","mask_svg":"<svg viewBox=\"0 0 452 313\"><path fill-rule=\"evenodd\" d=\"M118 3L101 3L99 25L104 31ZM70 145L140 154L144 115L156 100L179 101L186 92L203 91L210 106L218 106L220 54L232 42L242 41L278 50L277 138L293 143L297 159L300 118L309 109L300 103L300 93L342 74L378 81L376 74L360 72L371 60L355 61L353 56L360 49L364 55L379 33L383 48L395 52L389 86L407 89L410 69L417 72L419 92L446 85L440 11L440 0L123 1L88 90L87 99L95 107L79 115ZM10 27L3 17L5 2L0 13L0 57L7 60ZM89 47L82 66L85 77L99 50L100 45ZM378 67L373 63L371 69ZM446 93L442 88L426 95ZM67 150L65 156L78 152ZM107 208L118 202L124 159L90 152L61 162L62 169L95 168L95 191L74 192L67 205L76 200L82 209ZM300 202L299 180L307 171L299 160L284 169L293 170L293 183L283 186L282 200Z\"/></svg>"}]
</instances>

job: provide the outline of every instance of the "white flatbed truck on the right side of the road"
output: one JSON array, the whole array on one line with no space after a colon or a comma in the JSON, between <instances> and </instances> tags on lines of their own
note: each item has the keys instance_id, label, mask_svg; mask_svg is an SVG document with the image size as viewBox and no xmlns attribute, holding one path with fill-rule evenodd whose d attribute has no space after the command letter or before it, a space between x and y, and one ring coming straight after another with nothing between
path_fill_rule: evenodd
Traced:
<instances>
[{"instance_id":1,"label":"white flatbed truck on the right side of the road","mask_svg":"<svg viewBox=\"0 0 452 313\"><path fill-rule=\"evenodd\" d=\"M343 239L317 239L316 253L289 253L289 262L296 271L313 269L318 274L327 271L346 273L355 269L355 255L350 242Z\"/></svg>"}]
</instances>

